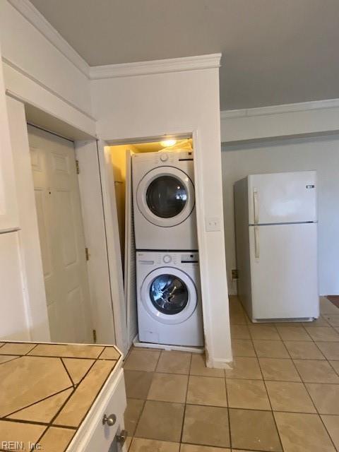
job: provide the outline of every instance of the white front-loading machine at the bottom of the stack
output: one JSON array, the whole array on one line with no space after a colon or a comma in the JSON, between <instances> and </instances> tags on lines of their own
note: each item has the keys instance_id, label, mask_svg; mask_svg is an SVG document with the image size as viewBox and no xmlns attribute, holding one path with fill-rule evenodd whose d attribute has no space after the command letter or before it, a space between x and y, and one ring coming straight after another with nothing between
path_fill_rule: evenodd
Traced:
<instances>
[{"instance_id":1,"label":"white front-loading machine at the bottom of the stack","mask_svg":"<svg viewBox=\"0 0 339 452\"><path fill-rule=\"evenodd\" d=\"M203 346L197 252L137 251L140 342Z\"/></svg>"}]
</instances>

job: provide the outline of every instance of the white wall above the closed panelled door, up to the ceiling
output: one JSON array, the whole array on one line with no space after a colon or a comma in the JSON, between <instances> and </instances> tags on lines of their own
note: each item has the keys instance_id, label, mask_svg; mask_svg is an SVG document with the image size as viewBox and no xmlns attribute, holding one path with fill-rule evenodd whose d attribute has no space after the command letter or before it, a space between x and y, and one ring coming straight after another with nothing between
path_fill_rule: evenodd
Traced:
<instances>
[{"instance_id":1,"label":"white wall above the closed panelled door, up to the ceiling","mask_svg":"<svg viewBox=\"0 0 339 452\"><path fill-rule=\"evenodd\" d=\"M88 65L28 2L11 0L11 3L0 1L6 90L23 102L95 135L90 79L86 74ZM23 12L28 13L30 21ZM37 23L40 30L33 23ZM47 39L47 35L52 35L53 39ZM60 44L59 48L56 43Z\"/></svg>"}]
</instances>

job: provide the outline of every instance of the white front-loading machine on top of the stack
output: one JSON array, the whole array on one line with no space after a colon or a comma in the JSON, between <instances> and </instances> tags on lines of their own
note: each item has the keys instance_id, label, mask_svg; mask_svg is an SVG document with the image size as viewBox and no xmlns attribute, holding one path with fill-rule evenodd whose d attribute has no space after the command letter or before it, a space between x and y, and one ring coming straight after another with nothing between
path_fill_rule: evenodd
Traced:
<instances>
[{"instance_id":1,"label":"white front-loading machine on top of the stack","mask_svg":"<svg viewBox=\"0 0 339 452\"><path fill-rule=\"evenodd\" d=\"M193 152L132 156L136 249L197 250Z\"/></svg>"}]
</instances>

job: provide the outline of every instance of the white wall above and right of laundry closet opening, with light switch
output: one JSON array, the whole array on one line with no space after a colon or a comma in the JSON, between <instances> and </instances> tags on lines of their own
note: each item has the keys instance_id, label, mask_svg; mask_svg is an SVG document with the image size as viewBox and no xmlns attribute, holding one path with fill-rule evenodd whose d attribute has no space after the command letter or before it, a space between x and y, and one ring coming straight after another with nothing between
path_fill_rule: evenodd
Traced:
<instances>
[{"instance_id":1,"label":"white wall above and right of laundry closet opening, with light switch","mask_svg":"<svg viewBox=\"0 0 339 452\"><path fill-rule=\"evenodd\" d=\"M195 131L198 239L208 364L232 359L222 224L218 68L92 82L97 133L105 141ZM220 218L206 232L205 218Z\"/></svg>"}]
</instances>

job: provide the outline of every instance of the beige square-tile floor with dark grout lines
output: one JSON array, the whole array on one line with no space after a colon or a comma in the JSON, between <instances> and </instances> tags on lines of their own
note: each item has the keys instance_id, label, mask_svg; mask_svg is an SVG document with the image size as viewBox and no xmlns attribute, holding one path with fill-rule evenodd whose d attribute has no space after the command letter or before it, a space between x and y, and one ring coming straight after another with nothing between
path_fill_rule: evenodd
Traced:
<instances>
[{"instance_id":1,"label":"beige square-tile floor with dark grout lines","mask_svg":"<svg viewBox=\"0 0 339 452\"><path fill-rule=\"evenodd\" d=\"M234 369L148 348L126 359L129 452L339 452L339 309L249 321L230 299Z\"/></svg>"}]
</instances>

